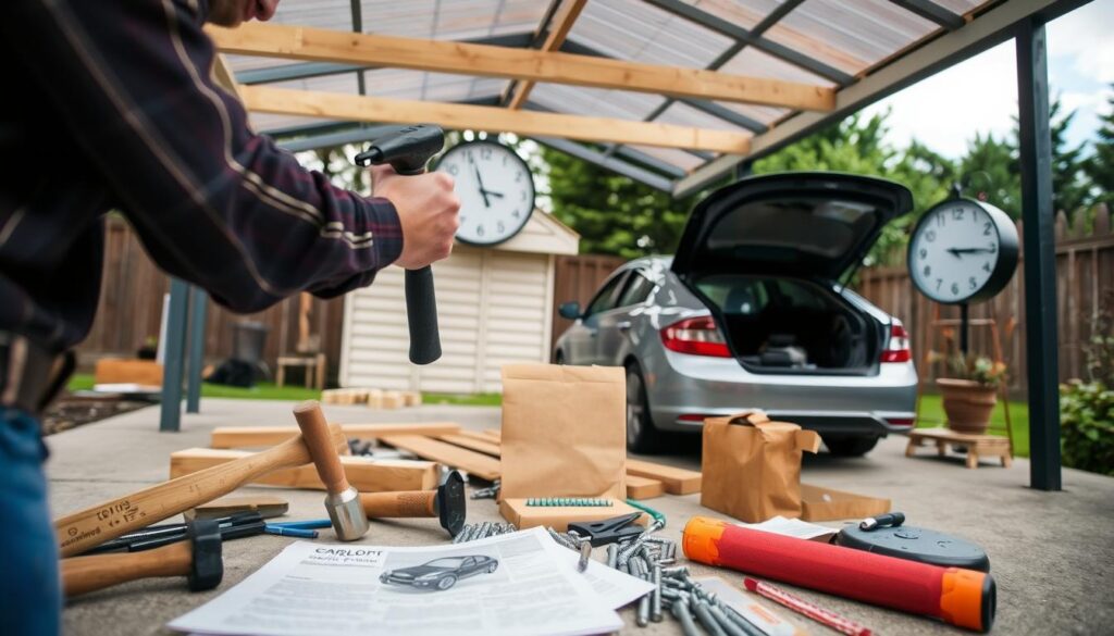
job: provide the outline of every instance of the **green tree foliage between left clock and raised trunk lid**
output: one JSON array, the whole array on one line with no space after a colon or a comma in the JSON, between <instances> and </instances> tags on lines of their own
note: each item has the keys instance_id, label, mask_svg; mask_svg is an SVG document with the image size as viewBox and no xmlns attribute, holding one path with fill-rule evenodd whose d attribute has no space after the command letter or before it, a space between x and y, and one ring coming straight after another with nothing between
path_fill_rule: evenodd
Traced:
<instances>
[{"instance_id":1,"label":"green tree foliage between left clock and raised trunk lid","mask_svg":"<svg viewBox=\"0 0 1114 636\"><path fill-rule=\"evenodd\" d=\"M580 252L635 258L672 254L696 197L670 193L541 148L553 213L580 234Z\"/></svg>"}]
</instances>

